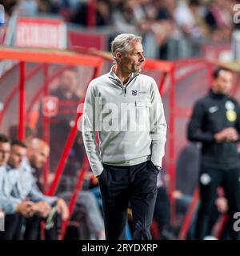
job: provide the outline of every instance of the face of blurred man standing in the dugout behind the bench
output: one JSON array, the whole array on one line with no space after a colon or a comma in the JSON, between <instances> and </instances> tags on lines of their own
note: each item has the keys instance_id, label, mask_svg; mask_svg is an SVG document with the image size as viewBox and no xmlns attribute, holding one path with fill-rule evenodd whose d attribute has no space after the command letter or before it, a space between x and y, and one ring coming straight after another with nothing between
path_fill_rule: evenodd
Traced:
<instances>
[{"instance_id":1,"label":"face of blurred man standing in the dugout behind the bench","mask_svg":"<svg viewBox=\"0 0 240 256\"><path fill-rule=\"evenodd\" d=\"M66 70L63 72L60 78L59 87L63 91L75 92L77 89L77 78L73 70Z\"/></svg>"}]
</instances>

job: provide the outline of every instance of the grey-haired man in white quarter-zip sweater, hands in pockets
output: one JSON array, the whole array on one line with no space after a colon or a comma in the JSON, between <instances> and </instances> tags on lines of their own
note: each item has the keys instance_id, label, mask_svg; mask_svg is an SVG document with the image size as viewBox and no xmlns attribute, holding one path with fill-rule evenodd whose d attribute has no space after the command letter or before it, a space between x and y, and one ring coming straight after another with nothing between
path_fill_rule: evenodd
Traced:
<instances>
[{"instance_id":1,"label":"grey-haired man in white quarter-zip sweater, hands in pockets","mask_svg":"<svg viewBox=\"0 0 240 256\"><path fill-rule=\"evenodd\" d=\"M134 239L151 239L166 142L162 99L154 79L140 74L142 38L120 34L111 47L114 66L90 82L86 92L83 141L101 189L106 239L125 239L129 202Z\"/></svg>"}]
</instances>

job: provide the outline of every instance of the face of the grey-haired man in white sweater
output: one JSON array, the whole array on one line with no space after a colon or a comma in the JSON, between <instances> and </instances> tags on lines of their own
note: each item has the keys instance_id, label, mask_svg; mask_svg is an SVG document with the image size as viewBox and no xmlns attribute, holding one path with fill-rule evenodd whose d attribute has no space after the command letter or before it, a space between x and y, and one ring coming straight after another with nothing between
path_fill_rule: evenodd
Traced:
<instances>
[{"instance_id":1,"label":"face of the grey-haired man in white sweater","mask_svg":"<svg viewBox=\"0 0 240 256\"><path fill-rule=\"evenodd\" d=\"M131 42L132 49L122 55L119 65L126 73L135 73L142 71L142 64L145 61L141 42Z\"/></svg>"}]
</instances>

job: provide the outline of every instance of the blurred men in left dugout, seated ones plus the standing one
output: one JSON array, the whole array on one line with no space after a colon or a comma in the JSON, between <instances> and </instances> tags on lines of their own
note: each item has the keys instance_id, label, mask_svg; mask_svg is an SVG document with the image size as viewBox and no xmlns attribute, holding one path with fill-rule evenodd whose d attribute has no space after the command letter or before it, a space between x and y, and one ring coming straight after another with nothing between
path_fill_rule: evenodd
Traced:
<instances>
[{"instance_id":1,"label":"blurred men in left dugout, seated ones plus the standing one","mask_svg":"<svg viewBox=\"0 0 240 256\"><path fill-rule=\"evenodd\" d=\"M50 118L49 143L45 142L46 134L42 128L42 101L38 124L34 128L26 126L24 141L18 140L18 126L15 125L9 127L8 136L0 134L0 212L5 214L5 232L0 234L0 239L40 239L41 222L46 224L44 238L59 239L62 221L68 219L70 225L66 239L105 238L100 190L90 170L86 172L82 190L77 194L74 211L71 215L69 212L85 154L81 133L76 136L70 150L55 196L46 196L81 100L76 75L74 69L64 70L59 76L58 86L50 90L51 97L58 101L58 111ZM46 182L44 170L48 172Z\"/></svg>"}]
</instances>

